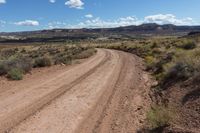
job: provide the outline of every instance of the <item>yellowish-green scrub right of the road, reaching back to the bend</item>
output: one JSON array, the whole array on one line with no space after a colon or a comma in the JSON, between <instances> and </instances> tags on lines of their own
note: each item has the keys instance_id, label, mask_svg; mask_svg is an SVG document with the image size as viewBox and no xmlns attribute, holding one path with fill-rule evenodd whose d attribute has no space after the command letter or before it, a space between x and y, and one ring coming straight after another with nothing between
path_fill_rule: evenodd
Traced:
<instances>
[{"instance_id":1,"label":"yellowish-green scrub right of the road, reaching back to the bend","mask_svg":"<svg viewBox=\"0 0 200 133\"><path fill-rule=\"evenodd\" d=\"M146 69L159 81L186 80L199 68L197 43L186 38L151 38L142 41L122 42L99 47L136 54L146 62Z\"/></svg>"}]
</instances>

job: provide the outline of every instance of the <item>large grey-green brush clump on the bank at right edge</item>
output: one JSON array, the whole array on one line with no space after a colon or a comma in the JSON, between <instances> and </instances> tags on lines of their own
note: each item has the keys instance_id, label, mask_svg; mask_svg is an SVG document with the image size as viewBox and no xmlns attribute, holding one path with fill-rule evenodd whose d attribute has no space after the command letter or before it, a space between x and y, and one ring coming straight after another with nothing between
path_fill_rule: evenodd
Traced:
<instances>
[{"instance_id":1,"label":"large grey-green brush clump on the bank at right edge","mask_svg":"<svg viewBox=\"0 0 200 133\"><path fill-rule=\"evenodd\" d=\"M184 81L200 72L200 49L183 51L167 62L161 84Z\"/></svg>"}]
</instances>

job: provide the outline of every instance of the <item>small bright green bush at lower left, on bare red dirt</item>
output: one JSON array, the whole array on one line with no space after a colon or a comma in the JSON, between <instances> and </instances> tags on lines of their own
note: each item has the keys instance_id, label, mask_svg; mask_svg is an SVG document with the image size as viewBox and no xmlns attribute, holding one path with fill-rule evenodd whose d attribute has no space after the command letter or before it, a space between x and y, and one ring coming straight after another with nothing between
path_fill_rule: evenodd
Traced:
<instances>
[{"instance_id":1,"label":"small bright green bush at lower left, on bare red dirt","mask_svg":"<svg viewBox=\"0 0 200 133\"><path fill-rule=\"evenodd\" d=\"M8 71L8 78L12 80L22 80L23 79L23 71L19 68L12 68Z\"/></svg>"}]
</instances>

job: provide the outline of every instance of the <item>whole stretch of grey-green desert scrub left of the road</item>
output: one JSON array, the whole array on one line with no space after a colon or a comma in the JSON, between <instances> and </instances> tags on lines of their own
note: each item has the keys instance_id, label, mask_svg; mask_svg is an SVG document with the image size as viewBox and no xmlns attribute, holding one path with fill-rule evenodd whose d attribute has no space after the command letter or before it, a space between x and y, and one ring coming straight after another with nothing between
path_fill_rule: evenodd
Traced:
<instances>
[{"instance_id":1,"label":"whole stretch of grey-green desert scrub left of the road","mask_svg":"<svg viewBox=\"0 0 200 133\"><path fill-rule=\"evenodd\" d=\"M95 51L92 47L65 44L2 47L0 76L7 75L10 79L20 80L23 74L30 72L33 67L69 65L73 60L88 58Z\"/></svg>"}]
</instances>

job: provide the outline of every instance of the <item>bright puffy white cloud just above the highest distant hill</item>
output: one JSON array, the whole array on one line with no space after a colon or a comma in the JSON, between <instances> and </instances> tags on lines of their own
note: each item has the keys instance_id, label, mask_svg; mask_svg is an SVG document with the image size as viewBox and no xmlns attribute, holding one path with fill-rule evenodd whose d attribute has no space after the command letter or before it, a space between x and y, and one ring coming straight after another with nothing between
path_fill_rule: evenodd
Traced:
<instances>
[{"instance_id":1,"label":"bright puffy white cloud just above the highest distant hill","mask_svg":"<svg viewBox=\"0 0 200 133\"><path fill-rule=\"evenodd\" d=\"M190 25L194 23L192 18L178 19L173 14L157 14L157 15L147 16L145 17L144 22L157 23L157 24L175 24L175 25Z\"/></svg>"}]
</instances>

